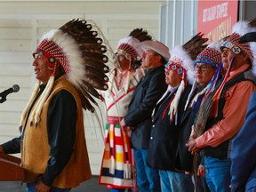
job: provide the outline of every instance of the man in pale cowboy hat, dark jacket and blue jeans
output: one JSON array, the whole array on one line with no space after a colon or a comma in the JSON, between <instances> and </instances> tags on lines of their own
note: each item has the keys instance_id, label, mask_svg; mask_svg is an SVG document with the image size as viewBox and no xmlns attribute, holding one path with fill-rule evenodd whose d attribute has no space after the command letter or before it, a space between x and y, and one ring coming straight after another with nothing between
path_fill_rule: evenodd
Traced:
<instances>
[{"instance_id":1,"label":"man in pale cowboy hat, dark jacket and blue jeans","mask_svg":"<svg viewBox=\"0 0 256 192\"><path fill-rule=\"evenodd\" d=\"M151 114L157 100L166 90L164 64L170 58L168 47L158 41L144 41L138 44L144 51L141 68L145 76L137 84L127 114L121 121L122 127L132 127L132 148L134 151L137 185L140 191L161 191L159 174L146 164L148 142L152 127Z\"/></svg>"}]
</instances>

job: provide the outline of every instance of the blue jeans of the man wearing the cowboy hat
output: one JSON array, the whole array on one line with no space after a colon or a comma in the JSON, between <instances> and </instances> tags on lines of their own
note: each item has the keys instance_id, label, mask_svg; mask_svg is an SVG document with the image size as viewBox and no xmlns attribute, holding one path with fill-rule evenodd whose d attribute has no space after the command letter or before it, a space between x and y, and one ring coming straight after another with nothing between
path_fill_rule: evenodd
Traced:
<instances>
[{"instance_id":1,"label":"blue jeans of the man wearing the cowboy hat","mask_svg":"<svg viewBox=\"0 0 256 192\"><path fill-rule=\"evenodd\" d=\"M158 170L148 167L146 162L147 149L134 149L137 174L137 186L141 192L160 192L160 177Z\"/></svg>"}]
</instances>

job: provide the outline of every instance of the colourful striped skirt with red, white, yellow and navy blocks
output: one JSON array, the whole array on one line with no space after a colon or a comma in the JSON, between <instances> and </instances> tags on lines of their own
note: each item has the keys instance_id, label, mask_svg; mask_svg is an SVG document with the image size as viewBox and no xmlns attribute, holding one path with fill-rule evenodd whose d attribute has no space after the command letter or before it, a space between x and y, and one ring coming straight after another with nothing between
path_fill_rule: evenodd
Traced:
<instances>
[{"instance_id":1,"label":"colourful striped skirt with red, white, yellow and navy blocks","mask_svg":"<svg viewBox=\"0 0 256 192\"><path fill-rule=\"evenodd\" d=\"M124 132L119 122L119 117L108 116L99 184L109 188L132 188L131 132Z\"/></svg>"}]
</instances>

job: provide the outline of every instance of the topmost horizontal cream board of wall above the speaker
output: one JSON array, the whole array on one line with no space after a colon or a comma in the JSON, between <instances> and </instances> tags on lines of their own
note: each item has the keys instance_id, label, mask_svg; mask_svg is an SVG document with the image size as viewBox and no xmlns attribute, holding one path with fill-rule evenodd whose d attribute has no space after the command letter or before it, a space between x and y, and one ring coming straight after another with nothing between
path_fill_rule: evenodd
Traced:
<instances>
[{"instance_id":1,"label":"topmost horizontal cream board of wall above the speaker","mask_svg":"<svg viewBox=\"0 0 256 192\"><path fill-rule=\"evenodd\" d=\"M19 13L19 14L136 14L145 13L153 14L159 12L159 2L147 1L119 1L119 2L0 2L0 11L4 13ZM10 7L12 11L10 12ZM22 9L20 8L22 7Z\"/></svg>"}]
</instances>

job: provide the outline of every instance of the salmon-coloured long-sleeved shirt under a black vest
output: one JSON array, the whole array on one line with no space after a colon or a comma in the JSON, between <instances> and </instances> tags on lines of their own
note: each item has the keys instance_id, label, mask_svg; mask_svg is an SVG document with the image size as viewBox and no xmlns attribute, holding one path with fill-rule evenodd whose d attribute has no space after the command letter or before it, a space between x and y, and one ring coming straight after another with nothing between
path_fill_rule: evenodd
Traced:
<instances>
[{"instance_id":1,"label":"salmon-coloured long-sleeved shirt under a black vest","mask_svg":"<svg viewBox=\"0 0 256 192\"><path fill-rule=\"evenodd\" d=\"M230 72L228 80L244 72L249 67L249 64L244 64L235 71ZM223 108L223 119L196 138L196 146L198 148L207 146L214 148L234 137L244 124L246 109L252 92L255 90L255 85L249 81L242 81L230 87L224 96L226 104Z\"/></svg>"}]
</instances>

